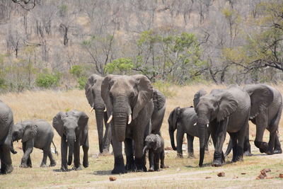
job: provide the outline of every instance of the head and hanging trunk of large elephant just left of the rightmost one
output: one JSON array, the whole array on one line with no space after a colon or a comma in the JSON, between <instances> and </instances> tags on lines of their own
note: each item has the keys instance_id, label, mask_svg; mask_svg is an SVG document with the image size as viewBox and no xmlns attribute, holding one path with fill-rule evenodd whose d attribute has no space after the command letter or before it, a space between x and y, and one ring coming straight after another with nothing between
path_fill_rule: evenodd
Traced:
<instances>
[{"instance_id":1,"label":"head and hanging trunk of large elephant just left of the rightmost one","mask_svg":"<svg viewBox=\"0 0 283 189\"><path fill-rule=\"evenodd\" d=\"M197 128L200 135L200 163L204 159L204 144L207 138L209 122L221 122L231 115L238 107L236 98L229 91L214 90L208 96L195 95L195 112L197 113Z\"/></svg>"}]
</instances>

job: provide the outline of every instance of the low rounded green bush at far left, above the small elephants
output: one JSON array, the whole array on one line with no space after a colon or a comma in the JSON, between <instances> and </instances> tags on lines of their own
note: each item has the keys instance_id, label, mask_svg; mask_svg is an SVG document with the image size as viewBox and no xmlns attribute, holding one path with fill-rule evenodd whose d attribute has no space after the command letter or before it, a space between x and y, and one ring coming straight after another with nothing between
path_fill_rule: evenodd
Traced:
<instances>
[{"instance_id":1,"label":"low rounded green bush at far left, above the small elephants","mask_svg":"<svg viewBox=\"0 0 283 189\"><path fill-rule=\"evenodd\" d=\"M35 84L42 88L59 86L60 74L50 74L48 72L38 74Z\"/></svg>"}]
</instances>

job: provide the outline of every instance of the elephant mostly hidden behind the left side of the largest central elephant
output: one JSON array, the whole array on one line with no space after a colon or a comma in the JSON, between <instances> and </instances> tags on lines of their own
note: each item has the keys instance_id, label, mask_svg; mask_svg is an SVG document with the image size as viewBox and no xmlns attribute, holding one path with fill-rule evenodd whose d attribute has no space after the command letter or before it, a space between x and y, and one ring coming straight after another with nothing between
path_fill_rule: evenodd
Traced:
<instances>
[{"instance_id":1,"label":"elephant mostly hidden behind the left side of the largest central elephant","mask_svg":"<svg viewBox=\"0 0 283 189\"><path fill-rule=\"evenodd\" d=\"M104 77L96 74L88 77L88 81L85 86L86 98L89 105L95 110L96 113L96 127L98 130L98 142L99 151L101 154L109 154L110 142L112 139L111 128L107 123L107 113L105 110L105 104L101 98L101 83ZM103 120L105 124L105 134L103 136Z\"/></svg>"}]
</instances>

